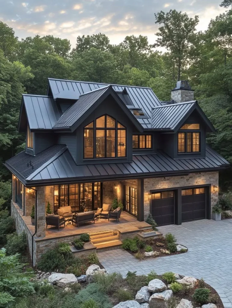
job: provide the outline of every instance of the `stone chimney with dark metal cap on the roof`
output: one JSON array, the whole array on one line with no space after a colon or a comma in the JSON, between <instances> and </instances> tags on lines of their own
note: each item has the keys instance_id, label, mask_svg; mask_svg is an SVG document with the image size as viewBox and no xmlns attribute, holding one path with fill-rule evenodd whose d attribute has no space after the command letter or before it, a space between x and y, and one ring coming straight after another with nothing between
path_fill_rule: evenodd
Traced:
<instances>
[{"instance_id":1,"label":"stone chimney with dark metal cap on the roof","mask_svg":"<svg viewBox=\"0 0 232 308\"><path fill-rule=\"evenodd\" d=\"M171 98L177 103L189 102L194 100L194 90L187 80L177 81L175 89L171 92Z\"/></svg>"}]
</instances>

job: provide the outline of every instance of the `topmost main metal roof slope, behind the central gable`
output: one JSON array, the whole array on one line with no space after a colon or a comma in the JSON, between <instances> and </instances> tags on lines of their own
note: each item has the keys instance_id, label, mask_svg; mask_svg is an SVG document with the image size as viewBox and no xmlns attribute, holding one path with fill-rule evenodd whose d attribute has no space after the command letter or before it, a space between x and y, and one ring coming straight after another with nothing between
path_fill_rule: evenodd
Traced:
<instances>
[{"instance_id":1,"label":"topmost main metal roof slope, behind the central gable","mask_svg":"<svg viewBox=\"0 0 232 308\"><path fill-rule=\"evenodd\" d=\"M105 87L108 84L48 78L48 85L54 99L63 98L77 100L80 95L101 87ZM162 105L153 90L147 87L134 87L115 84L112 84L112 88L115 91L122 92L124 89L127 91L132 105L136 108L142 108L143 111L149 116L149 119L137 120L139 120L139 123L144 128L151 128L150 117L152 108Z\"/></svg>"}]
</instances>

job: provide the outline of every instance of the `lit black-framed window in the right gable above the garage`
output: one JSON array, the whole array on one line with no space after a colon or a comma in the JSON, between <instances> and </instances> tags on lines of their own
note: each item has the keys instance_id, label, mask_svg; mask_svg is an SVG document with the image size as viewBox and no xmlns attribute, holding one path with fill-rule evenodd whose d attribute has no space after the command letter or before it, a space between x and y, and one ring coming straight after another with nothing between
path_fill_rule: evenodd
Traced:
<instances>
[{"instance_id":1,"label":"lit black-framed window in the right gable above the garage","mask_svg":"<svg viewBox=\"0 0 232 308\"><path fill-rule=\"evenodd\" d=\"M197 132L199 129L200 124L185 124L181 127L183 132L178 132L178 153L200 152L200 132Z\"/></svg>"}]
</instances>

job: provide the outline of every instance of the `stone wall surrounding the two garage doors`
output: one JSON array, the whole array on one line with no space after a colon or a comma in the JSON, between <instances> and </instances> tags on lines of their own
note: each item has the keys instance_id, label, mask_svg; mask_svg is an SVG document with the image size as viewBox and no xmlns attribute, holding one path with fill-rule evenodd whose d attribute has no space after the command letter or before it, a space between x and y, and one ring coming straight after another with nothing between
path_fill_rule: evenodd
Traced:
<instances>
[{"instance_id":1,"label":"stone wall surrounding the two garage doors","mask_svg":"<svg viewBox=\"0 0 232 308\"><path fill-rule=\"evenodd\" d=\"M213 185L218 186L218 172L191 173L188 176L172 176L144 179L144 220L150 213L148 194L152 189L174 188L211 184L211 208L218 202L218 192L213 191Z\"/></svg>"}]
</instances>

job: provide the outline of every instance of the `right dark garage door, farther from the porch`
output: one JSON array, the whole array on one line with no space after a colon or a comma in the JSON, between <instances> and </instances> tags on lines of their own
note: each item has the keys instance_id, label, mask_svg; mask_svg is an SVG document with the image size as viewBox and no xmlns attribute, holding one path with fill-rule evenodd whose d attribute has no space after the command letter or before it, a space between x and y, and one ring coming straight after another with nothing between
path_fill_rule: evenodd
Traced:
<instances>
[{"instance_id":1,"label":"right dark garage door, farther from the porch","mask_svg":"<svg viewBox=\"0 0 232 308\"><path fill-rule=\"evenodd\" d=\"M206 218L206 189L182 190L182 222Z\"/></svg>"}]
</instances>

